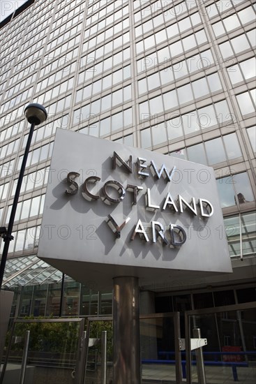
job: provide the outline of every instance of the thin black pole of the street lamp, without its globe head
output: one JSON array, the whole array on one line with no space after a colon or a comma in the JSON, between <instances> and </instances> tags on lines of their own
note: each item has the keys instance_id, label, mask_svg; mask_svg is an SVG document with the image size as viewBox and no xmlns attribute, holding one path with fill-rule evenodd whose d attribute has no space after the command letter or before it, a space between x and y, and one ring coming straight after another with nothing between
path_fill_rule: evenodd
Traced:
<instances>
[{"instance_id":1,"label":"thin black pole of the street lamp, without its globe head","mask_svg":"<svg viewBox=\"0 0 256 384\"><path fill-rule=\"evenodd\" d=\"M13 207L10 211L10 220L9 220L9 224L8 224L8 229L7 229L6 236L3 238L4 246L3 246L3 254L2 254L1 264L0 264L0 289L1 289L1 286L3 283L3 274L4 274L4 269L6 267L6 259L8 256L8 249L9 249L10 240L13 239L13 237L12 237L13 223L14 223L14 219L15 219L17 203L18 203L18 200L20 197L20 189L22 187L22 179L24 176L24 170L26 168L27 158L29 155L29 148L31 145L31 140L32 140L33 130L35 128L35 125L36 125L35 123L32 123L31 127L30 127L27 145L26 145L24 156L22 159L22 166L20 168L20 175L19 175L19 178L17 180L16 191L15 191L15 195L14 195L14 199L13 199Z\"/></svg>"}]
</instances>

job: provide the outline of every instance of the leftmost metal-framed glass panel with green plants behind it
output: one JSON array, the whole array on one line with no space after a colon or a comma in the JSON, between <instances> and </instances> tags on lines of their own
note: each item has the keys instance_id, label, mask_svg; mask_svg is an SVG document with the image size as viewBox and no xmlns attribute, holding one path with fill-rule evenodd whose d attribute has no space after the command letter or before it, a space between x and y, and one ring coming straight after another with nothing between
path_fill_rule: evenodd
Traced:
<instances>
[{"instance_id":1,"label":"leftmost metal-framed glass panel with green plants behind it","mask_svg":"<svg viewBox=\"0 0 256 384\"><path fill-rule=\"evenodd\" d=\"M24 384L80 384L84 319L15 320L0 383L20 383L25 335L29 331Z\"/></svg>"}]
</instances>

